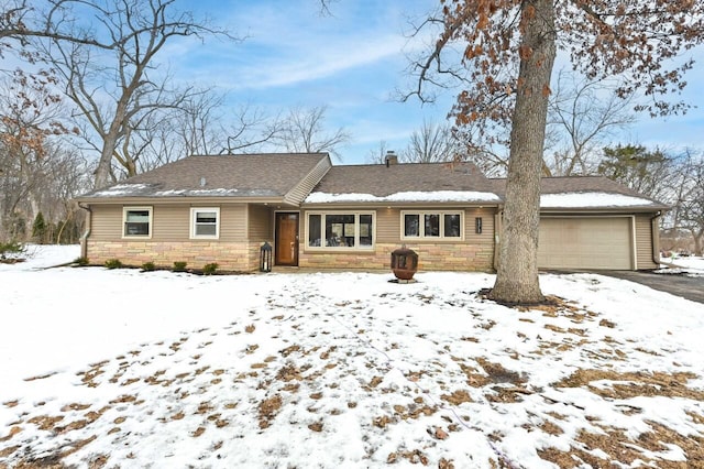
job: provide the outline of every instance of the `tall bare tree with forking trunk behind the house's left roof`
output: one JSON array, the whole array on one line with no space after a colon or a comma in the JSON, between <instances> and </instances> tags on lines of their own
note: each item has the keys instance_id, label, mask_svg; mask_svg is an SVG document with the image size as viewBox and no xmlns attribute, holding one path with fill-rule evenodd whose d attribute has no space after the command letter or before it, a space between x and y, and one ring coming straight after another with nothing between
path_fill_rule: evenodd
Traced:
<instances>
[{"instance_id":1,"label":"tall bare tree with forking trunk behind the house's left roof","mask_svg":"<svg viewBox=\"0 0 704 469\"><path fill-rule=\"evenodd\" d=\"M67 42L51 35L38 45L62 77L65 92L78 109L77 118L87 122L98 138L100 159L95 185L111 179L111 165L118 162L128 175L136 173L136 161L128 153L131 132L148 120L148 114L178 108L191 90L169 89L168 77L156 70L157 56L167 43L184 36L222 36L229 32L197 21L189 12L175 10L175 0L91 0L55 1L69 15L80 3L96 19L97 37L108 37L106 52L81 42ZM55 10L52 10L55 11ZM85 12L84 12L85 14ZM51 20L51 17L48 18ZM50 21L51 22L51 21ZM63 34L81 37L76 22L54 24Z\"/></svg>"}]
</instances>

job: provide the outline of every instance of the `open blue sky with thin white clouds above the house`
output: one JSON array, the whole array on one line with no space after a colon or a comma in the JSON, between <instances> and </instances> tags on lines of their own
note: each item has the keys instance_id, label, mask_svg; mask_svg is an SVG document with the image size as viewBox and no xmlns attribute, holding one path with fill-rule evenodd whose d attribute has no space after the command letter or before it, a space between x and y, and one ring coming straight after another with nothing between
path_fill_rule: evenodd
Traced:
<instances>
[{"instance_id":1,"label":"open blue sky with thin white clouds above the house","mask_svg":"<svg viewBox=\"0 0 704 469\"><path fill-rule=\"evenodd\" d=\"M318 0L184 0L184 10L211 17L215 24L244 36L232 44L209 39L180 41L167 50L172 72L190 84L227 92L229 103L250 103L270 113L300 106L326 106L330 129L343 127L352 139L341 163L364 163L370 150L386 141L402 150L424 119L442 122L457 90L441 92L435 105L397 99L413 83L407 55L422 40L409 40L409 19L422 18L438 0L338 0L332 15L320 14ZM427 41L427 39L426 39ZM702 148L704 54L688 79L685 99L698 106L684 117L636 126L614 143Z\"/></svg>"}]
</instances>

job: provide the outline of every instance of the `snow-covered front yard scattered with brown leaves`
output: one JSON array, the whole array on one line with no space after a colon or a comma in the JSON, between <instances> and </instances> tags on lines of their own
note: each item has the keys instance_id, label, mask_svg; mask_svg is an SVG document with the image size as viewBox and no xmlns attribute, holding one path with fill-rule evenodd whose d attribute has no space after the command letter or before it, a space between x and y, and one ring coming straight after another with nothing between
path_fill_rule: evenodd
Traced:
<instances>
[{"instance_id":1,"label":"snow-covered front yard scattered with brown leaves","mask_svg":"<svg viewBox=\"0 0 704 469\"><path fill-rule=\"evenodd\" d=\"M0 468L704 467L704 305L601 275L0 264Z\"/></svg>"}]
</instances>

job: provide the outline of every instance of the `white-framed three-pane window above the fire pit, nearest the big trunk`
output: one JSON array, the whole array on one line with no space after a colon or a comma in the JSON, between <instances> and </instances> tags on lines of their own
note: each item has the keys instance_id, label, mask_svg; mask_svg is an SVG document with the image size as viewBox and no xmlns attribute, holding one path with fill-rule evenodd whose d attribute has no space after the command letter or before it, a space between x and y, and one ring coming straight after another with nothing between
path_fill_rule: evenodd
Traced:
<instances>
[{"instance_id":1,"label":"white-framed three-pane window above the fire pit, nearest the big trunk","mask_svg":"<svg viewBox=\"0 0 704 469\"><path fill-rule=\"evenodd\" d=\"M462 239L461 211L402 211L402 239Z\"/></svg>"}]
</instances>

